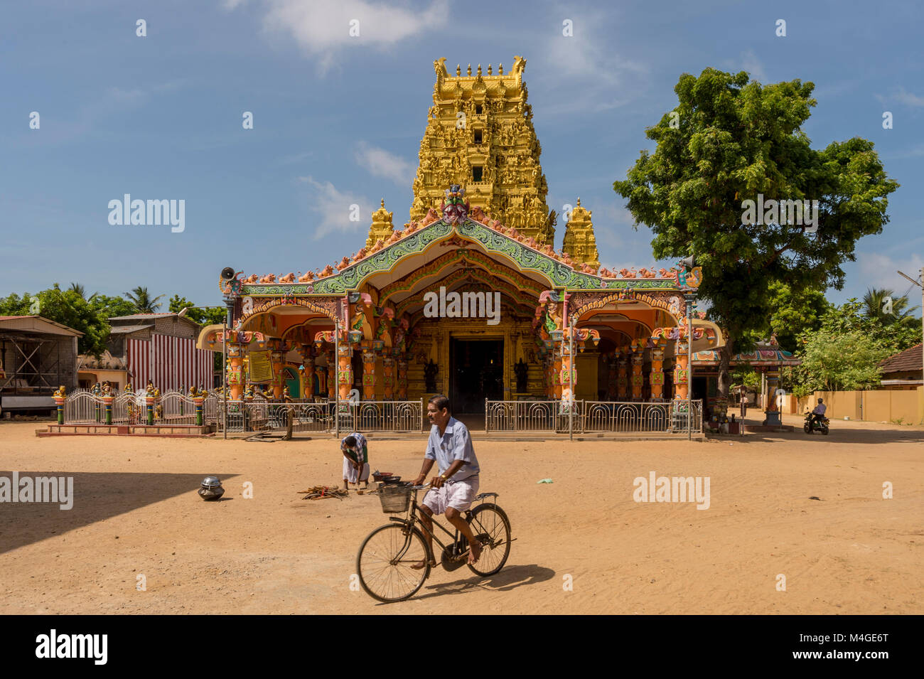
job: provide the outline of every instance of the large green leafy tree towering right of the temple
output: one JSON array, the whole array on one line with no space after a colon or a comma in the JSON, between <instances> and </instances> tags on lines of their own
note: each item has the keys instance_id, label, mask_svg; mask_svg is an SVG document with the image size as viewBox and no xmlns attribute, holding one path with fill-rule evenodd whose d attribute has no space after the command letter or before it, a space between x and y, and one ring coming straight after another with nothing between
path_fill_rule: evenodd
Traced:
<instances>
[{"instance_id":1,"label":"large green leafy tree towering right of the temple","mask_svg":"<svg viewBox=\"0 0 924 679\"><path fill-rule=\"evenodd\" d=\"M798 79L762 86L746 72L713 68L699 78L684 74L675 111L646 131L657 148L642 151L626 180L614 182L636 227L646 224L654 233L657 259L697 256L699 295L710 300L711 318L726 335L723 396L729 360L750 349L754 333L772 318L772 284L840 289L841 265L855 259L857 240L888 223L887 196L898 184L886 176L872 142L811 148L801 126L816 104L813 89ZM765 201L818 200L817 224L792 224L772 212L761 215L769 224L743 224L744 201L758 194Z\"/></svg>"}]
</instances>

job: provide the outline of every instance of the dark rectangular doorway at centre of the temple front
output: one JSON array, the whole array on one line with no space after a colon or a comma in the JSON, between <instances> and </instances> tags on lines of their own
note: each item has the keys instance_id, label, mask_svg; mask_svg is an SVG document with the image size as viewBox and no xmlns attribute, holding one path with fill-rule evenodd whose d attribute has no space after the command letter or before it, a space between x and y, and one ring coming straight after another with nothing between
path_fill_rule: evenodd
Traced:
<instances>
[{"instance_id":1,"label":"dark rectangular doorway at centre of the temple front","mask_svg":"<svg viewBox=\"0 0 924 679\"><path fill-rule=\"evenodd\" d=\"M484 399L504 398L504 340L449 341L449 399L453 414L484 416Z\"/></svg>"}]
</instances>

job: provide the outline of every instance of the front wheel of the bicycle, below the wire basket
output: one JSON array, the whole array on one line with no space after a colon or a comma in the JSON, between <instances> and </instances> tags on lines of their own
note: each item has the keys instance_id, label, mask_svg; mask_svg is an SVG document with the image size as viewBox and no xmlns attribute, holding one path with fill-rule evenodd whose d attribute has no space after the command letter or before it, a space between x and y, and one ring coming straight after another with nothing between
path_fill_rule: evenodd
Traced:
<instances>
[{"instance_id":1,"label":"front wheel of the bicycle, below the wire basket","mask_svg":"<svg viewBox=\"0 0 924 679\"><path fill-rule=\"evenodd\" d=\"M423 568L411 568L423 562ZM373 599L400 601L413 596L430 576L427 543L418 528L388 524L373 530L356 557L359 584Z\"/></svg>"}]
</instances>

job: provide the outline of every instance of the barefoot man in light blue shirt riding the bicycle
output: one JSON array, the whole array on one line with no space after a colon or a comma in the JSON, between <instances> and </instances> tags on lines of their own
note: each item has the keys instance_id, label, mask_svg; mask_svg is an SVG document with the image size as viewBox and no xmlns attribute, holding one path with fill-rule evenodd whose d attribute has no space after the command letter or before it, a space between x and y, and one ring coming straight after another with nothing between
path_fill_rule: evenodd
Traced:
<instances>
[{"instance_id":1,"label":"barefoot man in light blue shirt riding the bicycle","mask_svg":"<svg viewBox=\"0 0 924 679\"><path fill-rule=\"evenodd\" d=\"M474 564L481 555L481 544L475 540L471 528L462 518L462 513L468 510L475 499L479 486L480 467L471 436L468 427L450 414L449 399L443 394L436 394L430 399L427 417L432 424L430 438L423 455L423 467L417 479L414 479L414 485L423 483L434 461L438 463L440 473L431 479L432 489L427 491L420 505L420 521L427 527L424 537L432 552L433 522L430 517L445 514L449 523L458 528L468 540L468 563ZM423 568L424 565L421 561L412 567Z\"/></svg>"}]
</instances>

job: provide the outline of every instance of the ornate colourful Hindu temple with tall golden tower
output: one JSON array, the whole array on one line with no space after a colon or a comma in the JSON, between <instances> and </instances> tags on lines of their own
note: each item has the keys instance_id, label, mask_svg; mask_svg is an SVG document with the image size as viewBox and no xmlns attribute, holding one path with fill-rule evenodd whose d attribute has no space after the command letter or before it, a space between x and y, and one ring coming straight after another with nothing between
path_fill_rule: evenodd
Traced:
<instances>
[{"instance_id":1,"label":"ornate colourful Hindu temple with tall golden tower","mask_svg":"<svg viewBox=\"0 0 924 679\"><path fill-rule=\"evenodd\" d=\"M594 412L669 430L687 412L685 295L699 269L602 267L580 199L553 249L526 60L433 66L406 224L382 200L340 261L222 273L231 328L203 329L199 346L226 348L230 409L287 400L313 430L420 430L425 399L446 394L474 429L561 430L579 411L584 430ZM722 345L701 314L689 325L694 351Z\"/></svg>"}]
</instances>

